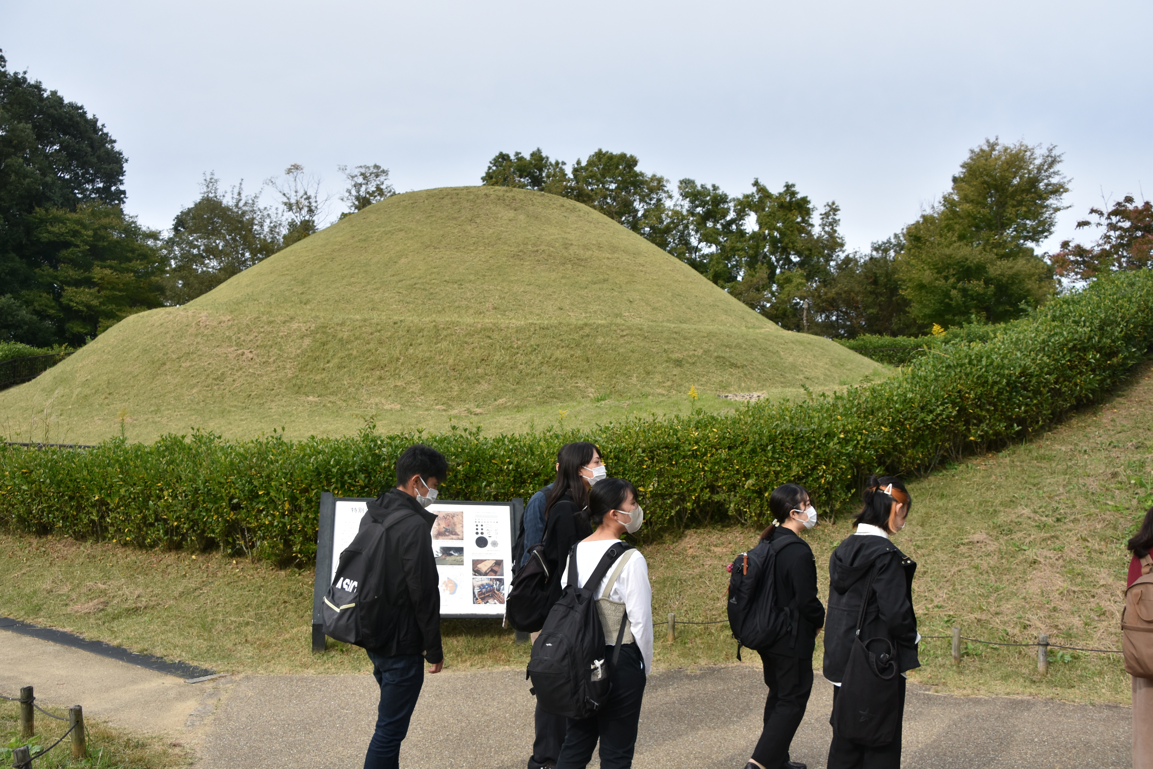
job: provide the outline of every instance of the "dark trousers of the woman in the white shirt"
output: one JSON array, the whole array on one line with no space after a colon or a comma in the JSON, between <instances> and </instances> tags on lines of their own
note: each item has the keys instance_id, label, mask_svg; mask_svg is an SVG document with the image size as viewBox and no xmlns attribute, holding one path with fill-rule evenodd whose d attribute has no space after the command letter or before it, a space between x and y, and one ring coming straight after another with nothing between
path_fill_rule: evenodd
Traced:
<instances>
[{"instance_id":1,"label":"dark trousers of the woman in the white shirt","mask_svg":"<svg viewBox=\"0 0 1153 769\"><path fill-rule=\"evenodd\" d=\"M612 647L605 654L612 655ZM609 701L591 718L568 719L565 744L557 769L585 769L601 740L601 769L628 769L636 749L636 725L645 699L645 661L635 643L620 647L620 659L612 670Z\"/></svg>"}]
</instances>

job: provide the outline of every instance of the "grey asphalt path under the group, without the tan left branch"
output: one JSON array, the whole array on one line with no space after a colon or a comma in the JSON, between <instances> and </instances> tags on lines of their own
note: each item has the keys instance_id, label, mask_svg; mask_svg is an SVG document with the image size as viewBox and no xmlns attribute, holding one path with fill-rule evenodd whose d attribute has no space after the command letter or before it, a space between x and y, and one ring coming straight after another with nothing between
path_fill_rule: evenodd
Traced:
<instances>
[{"instance_id":1,"label":"grey asphalt path under the group, without the tan left branch","mask_svg":"<svg viewBox=\"0 0 1153 769\"><path fill-rule=\"evenodd\" d=\"M793 740L792 760L813 769L826 764L831 688L819 679ZM633 766L741 769L760 734L766 692L752 664L654 673ZM239 679L208 725L197 766L360 767L377 700L369 676ZM910 687L902 766L1130 767L1131 734L1131 711L1117 706ZM425 676L400 766L522 769L532 744L533 698L522 671L445 671Z\"/></svg>"}]
</instances>

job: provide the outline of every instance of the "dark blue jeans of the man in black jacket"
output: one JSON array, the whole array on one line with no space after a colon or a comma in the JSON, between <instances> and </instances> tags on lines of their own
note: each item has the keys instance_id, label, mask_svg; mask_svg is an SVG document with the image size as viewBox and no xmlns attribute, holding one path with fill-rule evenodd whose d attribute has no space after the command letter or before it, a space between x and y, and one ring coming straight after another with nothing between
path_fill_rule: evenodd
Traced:
<instances>
[{"instance_id":1,"label":"dark blue jeans of the man in black jacket","mask_svg":"<svg viewBox=\"0 0 1153 769\"><path fill-rule=\"evenodd\" d=\"M424 659L419 654L383 657L371 651L368 658L372 661L372 676L380 685L380 704L364 769L399 769L400 742L408 734L408 722L424 685Z\"/></svg>"}]
</instances>

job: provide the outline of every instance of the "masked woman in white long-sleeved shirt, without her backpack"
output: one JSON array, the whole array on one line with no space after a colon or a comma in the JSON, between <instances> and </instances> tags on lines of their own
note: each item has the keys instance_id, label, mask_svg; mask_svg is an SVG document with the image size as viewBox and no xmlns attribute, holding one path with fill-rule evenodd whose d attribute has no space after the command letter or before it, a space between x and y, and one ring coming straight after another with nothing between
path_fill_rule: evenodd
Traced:
<instances>
[{"instance_id":1,"label":"masked woman in white long-sleeved shirt, without her backpack","mask_svg":"<svg viewBox=\"0 0 1153 769\"><path fill-rule=\"evenodd\" d=\"M604 478L593 487L588 492L588 511L595 530L575 545L579 587L585 587L585 575L593 573L615 542L625 533L635 534L640 529L645 517L636 504L636 487L621 478ZM560 583L568 583L567 566ZM583 769L597 740L601 769L627 769L633 764L645 680L653 669L653 588L645 556L638 550L626 550L596 588L596 598L606 659L617 642L621 610L628 617L620 659L610 672L609 701L590 718L568 719L556 769Z\"/></svg>"}]
</instances>

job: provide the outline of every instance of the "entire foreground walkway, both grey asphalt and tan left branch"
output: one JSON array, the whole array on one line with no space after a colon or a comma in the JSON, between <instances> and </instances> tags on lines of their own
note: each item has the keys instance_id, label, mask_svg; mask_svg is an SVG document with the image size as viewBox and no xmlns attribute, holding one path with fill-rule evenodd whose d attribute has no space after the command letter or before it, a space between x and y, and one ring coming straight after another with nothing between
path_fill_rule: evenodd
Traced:
<instances>
[{"instance_id":1,"label":"entire foreground walkway, both grey asphalt and tan left branch","mask_svg":"<svg viewBox=\"0 0 1153 769\"><path fill-rule=\"evenodd\" d=\"M360 767L376 719L371 676L246 676L204 684L0 631L0 692L84 706L195 749L198 769ZM817 681L793 760L824 767L831 687ZM649 678L638 769L740 769L760 733L759 666ZM211 714L211 715L210 715ZM408 769L522 769L533 698L523 671L427 676L400 756ZM1130 767L1130 710L1047 700L955 698L910 688L905 769ZM597 767L594 759L590 767Z\"/></svg>"}]
</instances>

